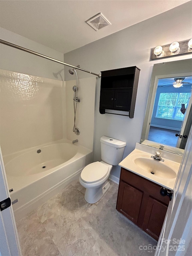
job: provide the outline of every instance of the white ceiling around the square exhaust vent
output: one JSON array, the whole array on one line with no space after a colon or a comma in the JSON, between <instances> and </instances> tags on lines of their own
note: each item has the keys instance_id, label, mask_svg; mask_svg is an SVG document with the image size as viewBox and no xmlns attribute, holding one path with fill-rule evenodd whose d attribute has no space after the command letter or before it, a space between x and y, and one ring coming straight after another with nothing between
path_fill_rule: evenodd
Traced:
<instances>
[{"instance_id":1,"label":"white ceiling around the square exhaust vent","mask_svg":"<svg viewBox=\"0 0 192 256\"><path fill-rule=\"evenodd\" d=\"M189 0L1 0L0 26L67 53L185 2ZM85 21L100 12L112 25L95 31Z\"/></svg>"}]
</instances>

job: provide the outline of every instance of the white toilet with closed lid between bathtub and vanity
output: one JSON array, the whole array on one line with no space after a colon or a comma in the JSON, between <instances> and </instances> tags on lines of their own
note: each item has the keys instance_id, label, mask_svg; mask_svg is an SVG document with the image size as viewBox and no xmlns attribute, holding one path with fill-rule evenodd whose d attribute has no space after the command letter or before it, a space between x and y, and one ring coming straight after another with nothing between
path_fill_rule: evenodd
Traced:
<instances>
[{"instance_id":1,"label":"white toilet with closed lid between bathtub and vanity","mask_svg":"<svg viewBox=\"0 0 192 256\"><path fill-rule=\"evenodd\" d=\"M126 142L102 136L101 162L94 162L85 166L79 177L80 184L86 188L85 201L98 202L110 187L108 177L113 165L122 161Z\"/></svg>"}]
</instances>

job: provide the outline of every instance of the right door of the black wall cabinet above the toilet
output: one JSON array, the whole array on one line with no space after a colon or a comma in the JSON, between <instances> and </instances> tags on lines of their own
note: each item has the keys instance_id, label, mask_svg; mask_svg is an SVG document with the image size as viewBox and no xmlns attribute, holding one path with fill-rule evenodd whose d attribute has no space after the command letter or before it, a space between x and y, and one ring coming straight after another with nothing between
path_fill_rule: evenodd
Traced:
<instances>
[{"instance_id":1,"label":"right door of the black wall cabinet above the toilet","mask_svg":"<svg viewBox=\"0 0 192 256\"><path fill-rule=\"evenodd\" d=\"M132 89L115 90L114 109L130 110Z\"/></svg>"}]
</instances>

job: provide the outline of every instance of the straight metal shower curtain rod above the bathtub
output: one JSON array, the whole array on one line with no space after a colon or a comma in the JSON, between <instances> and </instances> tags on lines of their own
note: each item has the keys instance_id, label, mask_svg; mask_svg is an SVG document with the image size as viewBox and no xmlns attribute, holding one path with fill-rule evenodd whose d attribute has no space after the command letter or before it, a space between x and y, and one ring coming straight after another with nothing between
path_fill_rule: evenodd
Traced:
<instances>
[{"instance_id":1,"label":"straight metal shower curtain rod above the bathtub","mask_svg":"<svg viewBox=\"0 0 192 256\"><path fill-rule=\"evenodd\" d=\"M101 74L96 74L96 73L93 73L93 72L91 72L91 71L88 71L88 70L85 70L85 69L82 69L82 68L78 68L78 67L76 67L76 66L67 64L67 63L62 62L62 61L57 60L57 59L53 59L53 58L48 57L48 56L46 56L46 55L43 55L43 54L41 54L41 53L34 52L34 51L32 51L32 50L29 50L29 49L27 49L27 48L21 47L21 46L16 45L16 44L12 44L12 43L7 42L7 41L4 41L4 40L2 40L2 39L0 39L0 43L1 43L1 44L5 44L5 45L8 45L8 46L11 46L11 47L14 47L14 48L16 48L16 49L22 50L22 51L27 52L27 53L32 53L32 54L34 54L34 55L40 56L40 57L45 58L45 59L52 60L52 61L54 61L54 62L63 64L63 65L65 65L65 66L68 66L68 67L71 67L71 68L79 69L79 70L84 71L84 72L87 72L87 73L89 73L89 74L93 74L93 75L95 75L95 76L98 76L99 78L101 77Z\"/></svg>"}]
</instances>

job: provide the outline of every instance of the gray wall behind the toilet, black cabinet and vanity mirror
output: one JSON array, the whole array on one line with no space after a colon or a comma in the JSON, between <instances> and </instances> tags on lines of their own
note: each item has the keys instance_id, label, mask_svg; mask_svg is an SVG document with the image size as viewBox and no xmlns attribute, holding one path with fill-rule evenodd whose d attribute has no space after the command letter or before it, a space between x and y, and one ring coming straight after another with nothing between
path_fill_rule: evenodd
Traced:
<instances>
[{"instance_id":1,"label":"gray wall behind the toilet, black cabinet and vanity mirror","mask_svg":"<svg viewBox=\"0 0 192 256\"><path fill-rule=\"evenodd\" d=\"M151 48L191 38L191 2L134 26L64 54L64 61L100 73L103 70L138 66L141 69L134 118L99 113L100 79L97 78L94 161L101 160L100 137L106 135L127 142L124 158L140 142L152 68L155 63L189 59L190 55L150 61ZM173 26L174 24L174 26ZM113 25L112 25L113 26ZM99 31L95 32L99 33ZM78 39L77 39L78 40ZM77 71L79 78L90 74ZM65 69L65 80L71 80ZM111 174L119 177L120 167Z\"/></svg>"}]
</instances>

